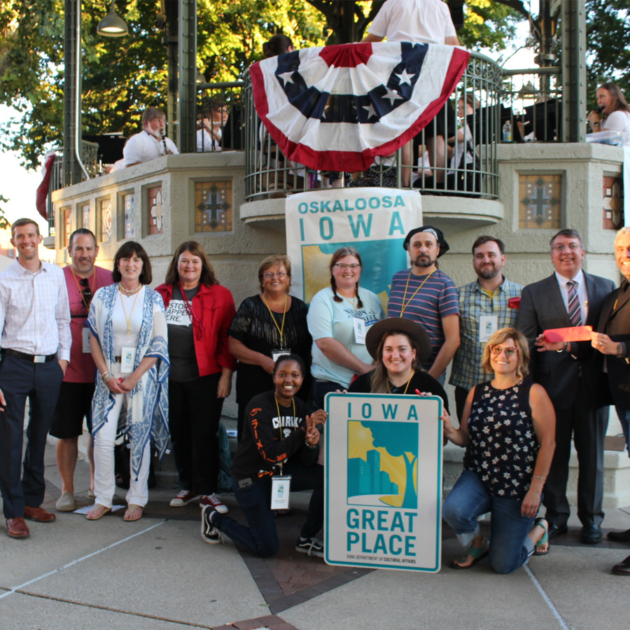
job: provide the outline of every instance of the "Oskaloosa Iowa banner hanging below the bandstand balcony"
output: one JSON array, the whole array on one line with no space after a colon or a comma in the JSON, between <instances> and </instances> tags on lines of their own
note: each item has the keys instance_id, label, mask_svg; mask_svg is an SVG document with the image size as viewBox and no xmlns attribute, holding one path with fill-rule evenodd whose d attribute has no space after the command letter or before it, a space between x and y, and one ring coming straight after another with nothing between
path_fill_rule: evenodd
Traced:
<instances>
[{"instance_id":1,"label":"Oskaloosa Iowa banner hanging below the bandstand balcony","mask_svg":"<svg viewBox=\"0 0 630 630\"><path fill-rule=\"evenodd\" d=\"M309 304L330 286L330 256L356 248L363 260L360 286L376 293L385 308L391 278L409 266L402 241L422 225L422 198L398 188L328 188L289 195L286 249L291 293Z\"/></svg>"}]
</instances>

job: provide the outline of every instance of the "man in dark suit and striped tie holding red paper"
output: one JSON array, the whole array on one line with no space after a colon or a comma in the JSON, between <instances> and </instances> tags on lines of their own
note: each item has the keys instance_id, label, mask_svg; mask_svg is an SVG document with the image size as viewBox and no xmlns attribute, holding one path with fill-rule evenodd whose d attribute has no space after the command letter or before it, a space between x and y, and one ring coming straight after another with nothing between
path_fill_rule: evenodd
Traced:
<instances>
[{"instance_id":1,"label":"man in dark suit and striped tie holding red paper","mask_svg":"<svg viewBox=\"0 0 630 630\"><path fill-rule=\"evenodd\" d=\"M590 342L548 343L542 332L595 326L604 297L615 285L582 272L584 246L577 230L560 230L549 245L556 272L523 289L517 316L517 328L531 345L532 377L547 390L556 411L556 451L545 484L545 518L549 538L566 533L573 437L579 461L577 516L582 521L582 542L594 544L602 538L603 442L608 426L608 407L599 407L596 395L601 367L596 365Z\"/></svg>"}]
</instances>

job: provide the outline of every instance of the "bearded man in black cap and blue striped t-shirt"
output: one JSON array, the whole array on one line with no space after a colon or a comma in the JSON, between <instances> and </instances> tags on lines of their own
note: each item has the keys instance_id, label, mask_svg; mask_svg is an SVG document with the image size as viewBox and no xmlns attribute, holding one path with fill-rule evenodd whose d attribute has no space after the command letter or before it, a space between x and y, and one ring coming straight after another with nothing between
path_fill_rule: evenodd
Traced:
<instances>
[{"instance_id":1,"label":"bearded man in black cap and blue striped t-shirt","mask_svg":"<svg viewBox=\"0 0 630 630\"><path fill-rule=\"evenodd\" d=\"M444 384L444 371L459 345L459 306L453 281L437 269L437 258L449 251L442 230L423 225L411 230L402 246L411 269L394 274L387 304L388 317L419 323L431 339L431 353L422 367Z\"/></svg>"}]
</instances>

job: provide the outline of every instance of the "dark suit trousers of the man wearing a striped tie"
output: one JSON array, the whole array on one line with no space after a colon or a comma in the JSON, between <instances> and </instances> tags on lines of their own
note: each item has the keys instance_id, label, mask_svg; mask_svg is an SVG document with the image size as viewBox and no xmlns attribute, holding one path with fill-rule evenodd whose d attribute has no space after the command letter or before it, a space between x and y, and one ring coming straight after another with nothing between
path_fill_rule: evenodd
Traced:
<instances>
[{"instance_id":1,"label":"dark suit trousers of the man wearing a striped tie","mask_svg":"<svg viewBox=\"0 0 630 630\"><path fill-rule=\"evenodd\" d=\"M566 525L570 514L566 498L571 437L577 451L577 517L582 525L603 521L603 443L608 427L608 407L587 409L583 388L573 407L556 409L556 450L547 483L545 518L549 524Z\"/></svg>"}]
</instances>

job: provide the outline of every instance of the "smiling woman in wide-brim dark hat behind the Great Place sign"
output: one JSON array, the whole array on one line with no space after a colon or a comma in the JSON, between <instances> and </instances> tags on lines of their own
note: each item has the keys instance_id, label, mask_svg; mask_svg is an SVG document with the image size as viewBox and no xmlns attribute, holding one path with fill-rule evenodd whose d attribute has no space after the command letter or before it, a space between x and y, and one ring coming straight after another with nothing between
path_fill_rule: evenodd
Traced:
<instances>
[{"instance_id":1,"label":"smiling woman in wide-brim dark hat behind the Great Place sign","mask_svg":"<svg viewBox=\"0 0 630 630\"><path fill-rule=\"evenodd\" d=\"M358 377L348 391L436 395L449 408L442 385L421 367L431 351L428 332L421 325L404 317L382 319L367 331L365 346L376 367Z\"/></svg>"}]
</instances>

